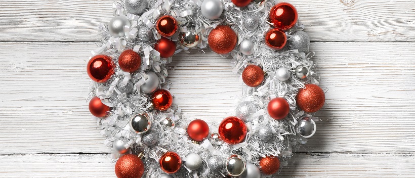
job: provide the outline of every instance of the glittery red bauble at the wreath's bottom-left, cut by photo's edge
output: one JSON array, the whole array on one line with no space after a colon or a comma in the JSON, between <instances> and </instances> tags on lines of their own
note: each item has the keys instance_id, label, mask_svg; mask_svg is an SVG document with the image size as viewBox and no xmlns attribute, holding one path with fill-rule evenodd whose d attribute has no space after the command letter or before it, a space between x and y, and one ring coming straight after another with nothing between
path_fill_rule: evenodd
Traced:
<instances>
[{"instance_id":1,"label":"glittery red bauble at the wreath's bottom-left, cut by photo's edge","mask_svg":"<svg viewBox=\"0 0 415 178\"><path fill-rule=\"evenodd\" d=\"M123 155L115 163L115 175L118 178L140 178L143 173L144 164L137 155Z\"/></svg>"}]
</instances>

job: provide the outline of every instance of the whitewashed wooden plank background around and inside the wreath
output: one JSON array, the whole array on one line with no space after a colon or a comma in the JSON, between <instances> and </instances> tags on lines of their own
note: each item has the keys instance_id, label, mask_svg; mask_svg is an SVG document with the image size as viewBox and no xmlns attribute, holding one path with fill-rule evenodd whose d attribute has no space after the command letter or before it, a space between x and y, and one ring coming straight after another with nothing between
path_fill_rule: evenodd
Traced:
<instances>
[{"instance_id":1,"label":"whitewashed wooden plank background around and inside the wreath","mask_svg":"<svg viewBox=\"0 0 415 178\"><path fill-rule=\"evenodd\" d=\"M415 1L293 0L327 90L316 135L279 177L415 177ZM112 0L0 0L0 177L115 177L85 66ZM179 54L175 103L218 121L229 59Z\"/></svg>"}]
</instances>

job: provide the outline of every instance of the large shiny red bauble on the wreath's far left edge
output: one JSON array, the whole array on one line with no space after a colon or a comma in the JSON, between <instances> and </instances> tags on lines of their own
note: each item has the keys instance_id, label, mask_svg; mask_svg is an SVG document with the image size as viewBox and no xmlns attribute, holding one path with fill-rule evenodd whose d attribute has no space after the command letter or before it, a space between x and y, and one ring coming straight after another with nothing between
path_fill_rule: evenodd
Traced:
<instances>
[{"instance_id":1,"label":"large shiny red bauble on the wreath's far left edge","mask_svg":"<svg viewBox=\"0 0 415 178\"><path fill-rule=\"evenodd\" d=\"M94 56L87 65L90 78L96 82L106 82L114 74L114 65L109 56Z\"/></svg>"}]
</instances>

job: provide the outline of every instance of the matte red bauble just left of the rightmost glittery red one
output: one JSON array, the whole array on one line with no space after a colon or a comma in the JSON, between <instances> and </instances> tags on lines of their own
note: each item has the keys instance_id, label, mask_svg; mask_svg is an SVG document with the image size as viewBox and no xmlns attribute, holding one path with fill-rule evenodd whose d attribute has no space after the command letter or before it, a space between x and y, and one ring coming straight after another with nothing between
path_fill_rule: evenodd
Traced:
<instances>
[{"instance_id":1,"label":"matte red bauble just left of the rightmost glittery red one","mask_svg":"<svg viewBox=\"0 0 415 178\"><path fill-rule=\"evenodd\" d=\"M283 98L274 98L268 103L268 114L279 120L285 118L289 113L289 104Z\"/></svg>"}]
</instances>

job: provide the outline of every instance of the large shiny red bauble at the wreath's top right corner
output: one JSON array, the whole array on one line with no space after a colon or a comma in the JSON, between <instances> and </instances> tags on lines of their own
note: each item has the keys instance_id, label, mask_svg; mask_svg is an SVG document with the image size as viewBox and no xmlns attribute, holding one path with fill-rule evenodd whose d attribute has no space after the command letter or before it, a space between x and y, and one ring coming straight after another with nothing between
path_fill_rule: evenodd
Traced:
<instances>
[{"instance_id":1,"label":"large shiny red bauble at the wreath's top right corner","mask_svg":"<svg viewBox=\"0 0 415 178\"><path fill-rule=\"evenodd\" d=\"M289 3L278 3L269 12L269 21L274 24L274 27L282 30L294 27L297 20L297 10Z\"/></svg>"}]
</instances>

